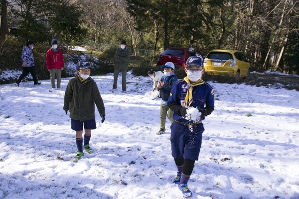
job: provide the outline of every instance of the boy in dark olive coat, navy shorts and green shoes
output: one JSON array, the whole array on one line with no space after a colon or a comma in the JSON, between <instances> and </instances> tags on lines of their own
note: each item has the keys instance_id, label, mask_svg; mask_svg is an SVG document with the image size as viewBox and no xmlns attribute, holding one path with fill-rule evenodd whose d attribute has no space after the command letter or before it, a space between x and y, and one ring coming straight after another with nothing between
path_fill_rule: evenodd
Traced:
<instances>
[{"instance_id":1,"label":"boy in dark olive coat, navy shorts and green shoes","mask_svg":"<svg viewBox=\"0 0 299 199\"><path fill-rule=\"evenodd\" d=\"M97 84L89 77L91 65L86 60L80 60L76 66L78 76L71 79L67 85L64 94L63 109L67 114L70 111L71 128L76 131L77 155L73 162L84 156L83 148L87 153L93 153L89 146L91 129L96 129L95 104L102 117L102 123L105 120L105 107L100 95ZM83 125L84 125L84 146L83 144Z\"/></svg>"}]
</instances>

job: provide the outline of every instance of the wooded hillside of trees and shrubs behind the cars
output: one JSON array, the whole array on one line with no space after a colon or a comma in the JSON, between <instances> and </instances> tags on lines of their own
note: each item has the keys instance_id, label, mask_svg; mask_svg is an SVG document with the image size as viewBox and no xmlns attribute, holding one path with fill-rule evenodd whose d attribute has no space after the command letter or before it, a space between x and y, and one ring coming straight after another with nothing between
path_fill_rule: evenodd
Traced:
<instances>
[{"instance_id":1,"label":"wooded hillside of trees and shrubs behind the cars","mask_svg":"<svg viewBox=\"0 0 299 199\"><path fill-rule=\"evenodd\" d=\"M203 57L237 49L252 70L299 74L298 0L1 0L2 43L12 27L22 45L125 39L135 53L192 46Z\"/></svg>"}]
</instances>

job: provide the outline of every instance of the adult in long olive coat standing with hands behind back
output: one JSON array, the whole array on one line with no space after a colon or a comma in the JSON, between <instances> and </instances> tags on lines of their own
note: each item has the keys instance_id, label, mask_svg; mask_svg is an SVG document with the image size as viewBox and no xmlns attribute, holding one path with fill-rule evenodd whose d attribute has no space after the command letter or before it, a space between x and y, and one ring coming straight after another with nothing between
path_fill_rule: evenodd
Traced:
<instances>
[{"instance_id":1,"label":"adult in long olive coat standing with hands behind back","mask_svg":"<svg viewBox=\"0 0 299 199\"><path fill-rule=\"evenodd\" d=\"M123 92L127 91L127 71L129 67L129 59L130 59L130 50L127 48L127 42L121 41L121 47L116 49L114 55L114 82L113 88L114 90L117 89L117 79L118 75L122 73L122 87Z\"/></svg>"}]
</instances>

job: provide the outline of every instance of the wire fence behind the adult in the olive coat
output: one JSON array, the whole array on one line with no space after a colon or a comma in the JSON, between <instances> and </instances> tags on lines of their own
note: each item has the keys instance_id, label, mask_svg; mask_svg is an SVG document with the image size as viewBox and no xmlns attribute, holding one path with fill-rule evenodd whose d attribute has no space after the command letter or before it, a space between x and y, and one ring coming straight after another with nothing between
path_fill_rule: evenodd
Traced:
<instances>
[{"instance_id":1,"label":"wire fence behind the adult in the olive coat","mask_svg":"<svg viewBox=\"0 0 299 199\"><path fill-rule=\"evenodd\" d=\"M104 44L99 43L91 40L84 40L83 45L89 46L92 48L96 48L100 51L108 51L108 50L116 50L118 46L112 44ZM130 55L134 55L134 48L127 47L130 50ZM159 51L156 51L156 54L159 54ZM146 49L136 49L136 55L142 57L150 57L153 56L153 50L146 50Z\"/></svg>"}]
</instances>

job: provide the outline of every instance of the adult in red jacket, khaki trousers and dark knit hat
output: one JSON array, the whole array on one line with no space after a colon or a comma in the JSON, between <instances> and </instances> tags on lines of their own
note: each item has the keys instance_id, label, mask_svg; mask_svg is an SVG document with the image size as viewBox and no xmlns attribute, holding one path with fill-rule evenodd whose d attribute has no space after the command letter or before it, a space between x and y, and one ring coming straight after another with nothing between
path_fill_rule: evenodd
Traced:
<instances>
[{"instance_id":1,"label":"adult in red jacket, khaki trousers and dark knit hat","mask_svg":"<svg viewBox=\"0 0 299 199\"><path fill-rule=\"evenodd\" d=\"M60 89L61 82L61 70L64 68L64 61L62 52L58 48L58 42L53 39L51 42L52 47L47 51L46 54L46 66L50 72L50 79L52 84L52 90L55 89L55 76L57 77L57 89Z\"/></svg>"}]
</instances>

